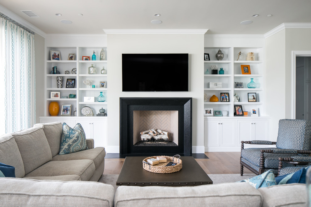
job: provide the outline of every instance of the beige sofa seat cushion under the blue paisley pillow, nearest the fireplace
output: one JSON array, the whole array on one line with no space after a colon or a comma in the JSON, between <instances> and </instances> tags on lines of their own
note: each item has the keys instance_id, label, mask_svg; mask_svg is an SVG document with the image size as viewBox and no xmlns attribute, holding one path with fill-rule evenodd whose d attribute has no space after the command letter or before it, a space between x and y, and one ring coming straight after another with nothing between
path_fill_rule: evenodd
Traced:
<instances>
[{"instance_id":1,"label":"beige sofa seat cushion under the blue paisley pillow, nearest the fireplace","mask_svg":"<svg viewBox=\"0 0 311 207\"><path fill-rule=\"evenodd\" d=\"M55 155L52 157L52 161L63 161L63 160L92 160L97 168L99 164L104 160L106 155L104 147L96 147L89 150L78 151L75 153L69 153L65 155Z\"/></svg>"}]
</instances>

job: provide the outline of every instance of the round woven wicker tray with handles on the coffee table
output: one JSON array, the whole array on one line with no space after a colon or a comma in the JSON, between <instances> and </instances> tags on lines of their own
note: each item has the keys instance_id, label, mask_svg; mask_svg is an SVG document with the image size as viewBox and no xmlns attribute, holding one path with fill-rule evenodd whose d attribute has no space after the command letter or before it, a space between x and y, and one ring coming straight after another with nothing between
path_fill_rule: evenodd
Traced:
<instances>
[{"instance_id":1,"label":"round woven wicker tray with handles on the coffee table","mask_svg":"<svg viewBox=\"0 0 311 207\"><path fill-rule=\"evenodd\" d=\"M181 168L183 167L183 162L181 159L179 159L179 157L180 157L179 155L177 155L177 156L179 156L178 158L175 156L173 156L173 157L163 156L166 158L167 162L161 162L161 163L156 164L156 165L148 165L148 164L143 162L143 168L147 171L152 172L152 173L174 173L174 172L177 172L177 171L181 170ZM143 161L147 162L148 159L151 159L151 158L156 159L156 157L159 157L159 156L147 157ZM177 163L177 165L166 167L166 164L168 162L175 162L175 163Z\"/></svg>"}]
</instances>

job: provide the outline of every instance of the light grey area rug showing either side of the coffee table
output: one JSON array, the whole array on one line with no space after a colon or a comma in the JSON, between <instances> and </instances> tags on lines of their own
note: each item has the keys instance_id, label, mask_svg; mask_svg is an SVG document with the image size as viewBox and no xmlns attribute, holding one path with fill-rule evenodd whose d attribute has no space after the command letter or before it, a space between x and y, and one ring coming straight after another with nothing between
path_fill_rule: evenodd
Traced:
<instances>
[{"instance_id":1,"label":"light grey area rug showing either side of the coffee table","mask_svg":"<svg viewBox=\"0 0 311 207\"><path fill-rule=\"evenodd\" d=\"M99 178L98 182L110 184L114 187L114 190L117 189L117 178L119 175L110 175L110 174L103 174L101 178ZM247 178L255 177L255 174L208 174L210 179L213 181L213 184L219 183L233 183L237 181L241 181Z\"/></svg>"}]
</instances>

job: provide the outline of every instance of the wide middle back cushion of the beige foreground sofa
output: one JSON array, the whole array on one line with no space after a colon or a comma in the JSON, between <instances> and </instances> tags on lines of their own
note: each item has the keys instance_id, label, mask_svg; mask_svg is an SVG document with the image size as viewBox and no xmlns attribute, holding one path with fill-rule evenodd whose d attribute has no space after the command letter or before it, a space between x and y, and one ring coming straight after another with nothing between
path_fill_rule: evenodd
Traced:
<instances>
[{"instance_id":1,"label":"wide middle back cushion of the beige foreground sofa","mask_svg":"<svg viewBox=\"0 0 311 207\"><path fill-rule=\"evenodd\" d=\"M119 186L114 206L261 206L261 194L248 183L191 187Z\"/></svg>"}]
</instances>

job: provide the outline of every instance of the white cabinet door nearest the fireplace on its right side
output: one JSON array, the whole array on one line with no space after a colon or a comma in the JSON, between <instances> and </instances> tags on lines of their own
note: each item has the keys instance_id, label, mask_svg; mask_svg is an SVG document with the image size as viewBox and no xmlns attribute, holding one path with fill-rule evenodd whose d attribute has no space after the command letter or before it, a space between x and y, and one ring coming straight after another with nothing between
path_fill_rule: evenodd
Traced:
<instances>
[{"instance_id":1,"label":"white cabinet door nearest the fireplace on its right side","mask_svg":"<svg viewBox=\"0 0 311 207\"><path fill-rule=\"evenodd\" d=\"M204 146L220 146L219 120L204 120Z\"/></svg>"}]
</instances>

